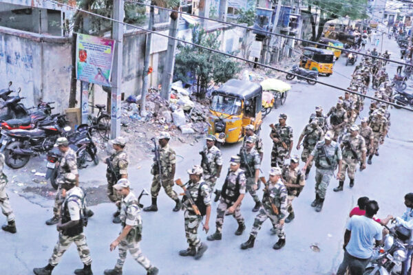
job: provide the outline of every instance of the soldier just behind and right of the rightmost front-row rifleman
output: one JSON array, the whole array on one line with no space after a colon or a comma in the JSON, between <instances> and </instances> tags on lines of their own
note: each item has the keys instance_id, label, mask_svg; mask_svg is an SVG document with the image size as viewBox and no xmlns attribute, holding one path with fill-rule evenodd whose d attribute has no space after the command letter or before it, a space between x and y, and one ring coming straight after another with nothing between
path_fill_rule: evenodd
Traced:
<instances>
[{"instance_id":1,"label":"soldier just behind and right of the rightmost front-row rifleman","mask_svg":"<svg viewBox=\"0 0 413 275\"><path fill-rule=\"evenodd\" d=\"M290 165L284 165L282 168L282 182L287 188L288 197L287 197L287 211L288 217L286 217L286 223L293 221L295 218L295 213L293 209L293 200L295 197L299 196L299 193L306 185L306 180L304 175L301 173L301 170L298 167L299 157L294 155L291 157Z\"/></svg>"}]
</instances>

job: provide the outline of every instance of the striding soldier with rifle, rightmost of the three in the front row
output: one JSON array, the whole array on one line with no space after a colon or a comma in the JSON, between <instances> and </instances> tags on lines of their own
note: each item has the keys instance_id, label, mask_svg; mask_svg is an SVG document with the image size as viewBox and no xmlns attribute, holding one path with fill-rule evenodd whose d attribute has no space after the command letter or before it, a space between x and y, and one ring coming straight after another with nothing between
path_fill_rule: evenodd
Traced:
<instances>
[{"instance_id":1,"label":"striding soldier with rifle, rightmost of the three in the front row","mask_svg":"<svg viewBox=\"0 0 413 275\"><path fill-rule=\"evenodd\" d=\"M276 234L279 239L273 246L273 249L279 250L286 245L286 234L284 233L284 221L287 215L287 189L281 180L282 170L279 167L272 167L270 170L270 180L268 186L264 190L262 197L262 208L255 217L253 229L251 230L248 241L242 243L241 249L253 248L255 238L260 231L262 223L266 219L270 219L273 223L273 228L276 229ZM274 212L277 210L277 212Z\"/></svg>"}]
</instances>

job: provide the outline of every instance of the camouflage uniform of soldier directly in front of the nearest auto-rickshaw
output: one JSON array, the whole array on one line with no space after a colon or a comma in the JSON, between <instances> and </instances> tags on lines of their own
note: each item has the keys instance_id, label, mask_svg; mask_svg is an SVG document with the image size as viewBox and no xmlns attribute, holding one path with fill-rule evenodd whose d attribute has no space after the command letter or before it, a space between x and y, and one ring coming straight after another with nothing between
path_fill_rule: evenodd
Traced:
<instances>
[{"instance_id":1,"label":"camouflage uniform of soldier directly in front of the nearest auto-rickshaw","mask_svg":"<svg viewBox=\"0 0 413 275\"><path fill-rule=\"evenodd\" d=\"M210 149L204 146L201 153L207 157L206 161L201 162L201 167L204 170L202 178L208 184L209 189L213 190L217 181L218 166L222 166L222 153L215 145Z\"/></svg>"}]
</instances>

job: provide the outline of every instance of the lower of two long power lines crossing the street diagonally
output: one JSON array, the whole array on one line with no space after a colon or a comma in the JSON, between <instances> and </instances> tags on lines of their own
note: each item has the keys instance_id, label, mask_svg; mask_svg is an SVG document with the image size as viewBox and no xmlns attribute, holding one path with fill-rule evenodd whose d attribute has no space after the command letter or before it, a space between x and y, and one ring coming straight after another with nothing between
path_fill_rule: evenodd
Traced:
<instances>
[{"instance_id":1,"label":"lower of two long power lines crossing the street diagonally","mask_svg":"<svg viewBox=\"0 0 413 275\"><path fill-rule=\"evenodd\" d=\"M382 103L385 103L385 104L390 104L390 105L392 105L392 106L400 107L401 109L406 109L407 111L413 111L413 109L410 109L410 108L407 108L407 107L404 107L404 106L401 106L401 105L394 104L393 102L388 102L388 101L385 101L385 100L381 100L381 99L379 99L379 98L374 98L374 97L372 97L372 96L367 96L367 95L365 95L365 94L360 94L360 93L357 93L357 92L355 92L355 91L350 91L350 90L348 90L348 89L343 89L343 88L341 88L341 87L337 87L337 86L335 86L335 85L331 85L331 84L328 84L328 83L323 83L323 82L321 82L321 81L319 81L319 80L314 80L313 78L307 78L307 77L305 77L305 76L300 76L300 75L294 74L294 73L292 73L292 72L286 72L286 71L284 71L284 70L282 70L282 69L277 69L277 68L275 68L275 67L271 67L270 65L265 65L265 64L258 63L258 62L255 62L255 61L250 61L250 60L248 60L248 59L246 59L246 58L234 56L233 54L228 54L228 53L226 53L226 52L221 52L221 51L218 51L218 50L214 50L214 49L211 49L211 48L209 48L209 47L204 47L204 46L202 46L202 45L198 45L198 44L195 44L195 43L192 43L192 42L189 42L189 41L184 41L184 40L182 40L182 39L177 39L176 37L172 37L172 36L169 36L169 35L167 35L167 34L161 34L161 33L159 33L159 32L153 31L153 30L147 30L147 29L142 28L142 27L139 27L139 26L137 26L137 25L132 25L132 24L129 24L129 23L125 23L125 22L116 20L116 19L112 19L112 18L109 18L109 17L105 17L105 16L103 16L103 15L96 14L96 13L94 13L94 12L89 12L89 11L87 11L87 10L82 10L81 8L72 7L71 5L66 5L66 4L64 4L64 3L59 3L59 2L54 1L54 0L43 0L43 1L50 1L51 3L56 3L56 4L59 4L59 5L64 5L65 7L70 8L70 9L72 9L72 10L78 10L79 12L84 12L84 13L86 13L86 14L94 15L95 17L100 17L100 18L103 18L103 19L107 19L107 20L109 20L109 21L114 21L114 22L117 22L117 23L120 23L120 24L123 24L123 25L127 25L127 26L132 27L132 28L136 28L136 29L139 29L139 30L143 30L143 31L145 31L145 32L151 32L152 34L156 34L156 35L158 35L158 36L164 36L164 37L166 37L166 38L168 38L168 39L173 39L173 40L176 40L176 41L180 41L181 43L193 45L194 47L200 47L200 48L202 48L202 49L204 49L204 50L208 50L208 51L210 51L210 52L215 52L215 53L217 53L217 54L223 54L223 55L229 56L229 57L231 57L231 58L239 59L239 60L244 61L244 62L246 62L246 63L252 63L252 64L255 64L255 65L260 65L260 66L266 67L266 68L268 68L268 69L273 69L273 70L275 70L275 71L277 71L277 72L282 72L282 73L284 73L284 74L291 74L291 75L297 76L297 77L299 77L299 78L304 78L304 79L306 79L306 80L311 80L311 81L313 81L313 82L315 82L315 83L319 83L319 84L325 85L325 86L327 86L327 87L331 87L331 88L334 88L334 89L339 89L339 90L341 90L341 91L347 91L347 92L349 92L350 94L357 94L357 95L359 95L359 96L363 96L364 98L370 98L371 100L376 100L376 101L379 101L379 102L382 102Z\"/></svg>"}]
</instances>

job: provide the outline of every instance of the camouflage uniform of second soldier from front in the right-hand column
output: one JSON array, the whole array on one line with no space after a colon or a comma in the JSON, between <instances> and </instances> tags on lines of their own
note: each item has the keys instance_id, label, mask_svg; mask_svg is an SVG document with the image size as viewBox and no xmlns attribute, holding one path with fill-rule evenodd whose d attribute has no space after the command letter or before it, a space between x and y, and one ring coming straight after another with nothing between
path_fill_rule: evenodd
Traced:
<instances>
[{"instance_id":1,"label":"camouflage uniform of second soldier from front in the right-hand column","mask_svg":"<svg viewBox=\"0 0 413 275\"><path fill-rule=\"evenodd\" d=\"M356 151L357 155L352 153L350 146L346 144L351 144L354 151ZM350 133L344 135L343 140L341 141L342 144L342 155L343 155L343 162L341 166L341 173L339 175L340 181L346 180L346 171L347 175L350 179L354 179L354 174L357 170L357 164L359 163L359 159L361 159L361 153L366 152L366 142L361 135L356 135L352 137Z\"/></svg>"}]
</instances>

